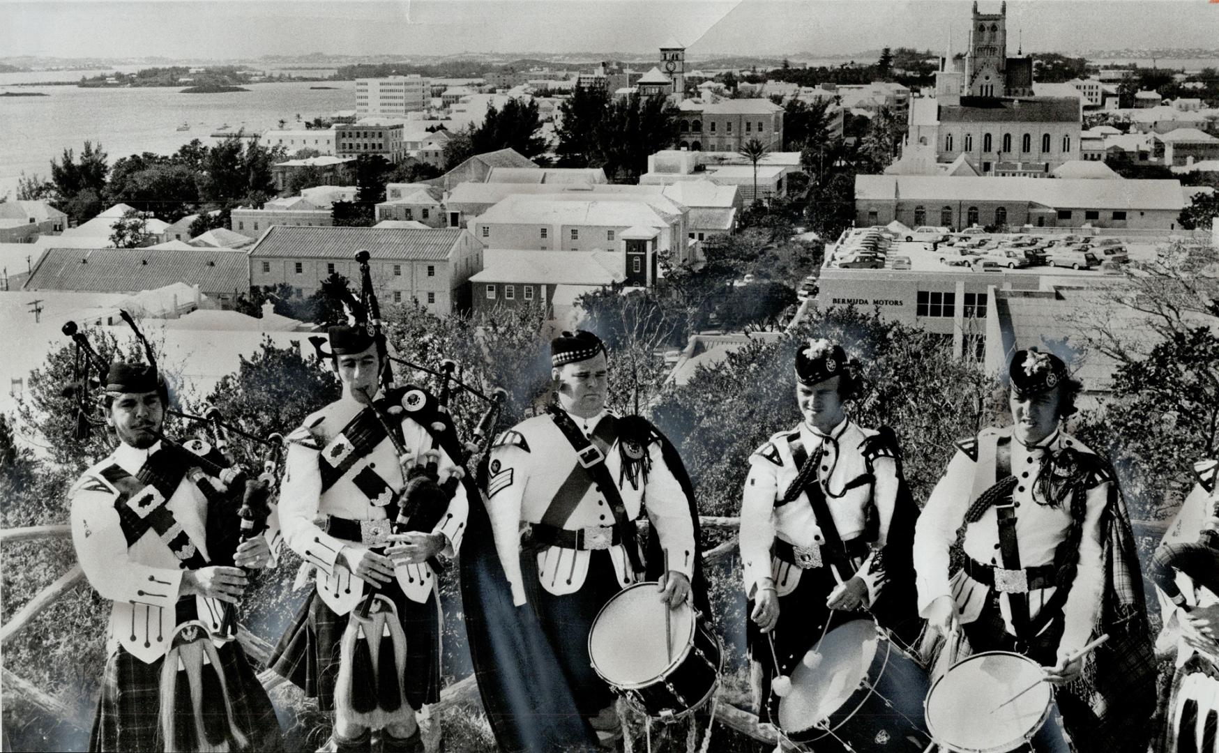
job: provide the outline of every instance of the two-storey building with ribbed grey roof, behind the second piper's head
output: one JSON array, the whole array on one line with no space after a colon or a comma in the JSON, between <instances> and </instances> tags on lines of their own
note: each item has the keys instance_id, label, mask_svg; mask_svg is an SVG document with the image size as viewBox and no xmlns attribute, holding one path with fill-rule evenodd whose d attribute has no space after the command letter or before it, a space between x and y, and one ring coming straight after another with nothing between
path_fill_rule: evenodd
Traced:
<instances>
[{"instance_id":1,"label":"two-storey building with ribbed grey roof, behind the second piper's head","mask_svg":"<svg viewBox=\"0 0 1219 753\"><path fill-rule=\"evenodd\" d=\"M250 249L249 284L285 283L308 296L334 273L360 279L360 264L354 260L361 250L371 255L382 306L413 300L435 314L469 308L467 283L483 268L483 246L456 228L275 227Z\"/></svg>"}]
</instances>

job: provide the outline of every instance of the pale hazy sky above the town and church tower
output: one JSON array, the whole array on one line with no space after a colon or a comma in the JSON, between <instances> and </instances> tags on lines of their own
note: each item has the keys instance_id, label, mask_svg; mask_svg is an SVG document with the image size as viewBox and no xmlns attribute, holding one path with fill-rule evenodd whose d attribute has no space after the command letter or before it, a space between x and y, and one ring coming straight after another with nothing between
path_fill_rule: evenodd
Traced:
<instances>
[{"instance_id":1,"label":"pale hazy sky above the town and church tower","mask_svg":"<svg viewBox=\"0 0 1219 753\"><path fill-rule=\"evenodd\" d=\"M983 12L998 10L983 0ZM238 58L261 55L655 52L836 56L881 46L957 49L969 0L0 0L0 57ZM1219 2L1008 4L1025 51L1217 48ZM1014 50L1013 50L1014 52Z\"/></svg>"}]
</instances>

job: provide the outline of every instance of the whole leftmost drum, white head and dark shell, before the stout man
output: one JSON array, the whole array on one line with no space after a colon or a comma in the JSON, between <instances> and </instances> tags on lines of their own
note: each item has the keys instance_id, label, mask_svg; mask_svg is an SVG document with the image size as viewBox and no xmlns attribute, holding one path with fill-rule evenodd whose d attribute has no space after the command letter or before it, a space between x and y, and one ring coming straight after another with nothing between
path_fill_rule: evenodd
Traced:
<instances>
[{"instance_id":1,"label":"whole leftmost drum, white head and dark shell, before the stout man","mask_svg":"<svg viewBox=\"0 0 1219 753\"><path fill-rule=\"evenodd\" d=\"M702 614L689 602L669 610L655 581L628 586L606 602L589 631L589 657L594 671L635 709L664 719L711 699L723 664L719 638Z\"/></svg>"}]
</instances>

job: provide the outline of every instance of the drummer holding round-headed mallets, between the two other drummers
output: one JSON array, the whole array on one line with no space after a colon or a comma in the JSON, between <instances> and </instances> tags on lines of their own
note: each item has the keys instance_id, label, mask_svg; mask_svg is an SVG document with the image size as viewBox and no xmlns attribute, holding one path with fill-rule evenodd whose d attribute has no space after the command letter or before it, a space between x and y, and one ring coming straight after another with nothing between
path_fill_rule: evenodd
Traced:
<instances>
[{"instance_id":1,"label":"drummer holding round-headed mallets, between the two other drummers","mask_svg":"<svg viewBox=\"0 0 1219 753\"><path fill-rule=\"evenodd\" d=\"M826 620L879 607L886 579L901 581L904 574L908 584L918 514L904 491L892 431L865 429L846 412L859 380L842 346L809 341L796 352L795 375L803 420L750 456L741 498L746 643L758 716L772 724L779 703L772 692L775 658L779 671L790 674ZM904 542L904 557L886 547L894 541ZM913 603L906 610L914 617Z\"/></svg>"}]
</instances>

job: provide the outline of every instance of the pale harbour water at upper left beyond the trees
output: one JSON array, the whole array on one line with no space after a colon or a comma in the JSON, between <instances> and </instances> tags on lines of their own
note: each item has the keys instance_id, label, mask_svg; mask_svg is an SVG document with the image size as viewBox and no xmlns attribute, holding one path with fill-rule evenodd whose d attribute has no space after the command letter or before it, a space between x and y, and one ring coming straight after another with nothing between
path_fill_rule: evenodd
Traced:
<instances>
[{"instance_id":1,"label":"pale harbour water at upper left beyond the trees","mask_svg":"<svg viewBox=\"0 0 1219 753\"><path fill-rule=\"evenodd\" d=\"M85 139L100 141L113 164L118 157L132 154L172 154L191 139L213 144L216 140L210 135L224 123L234 130L263 132L278 127L280 119L291 125L297 115L302 121L311 121L356 107L355 82L246 84L249 91L229 94L182 94L178 88L82 89L12 83L0 79L0 93L40 91L48 96L0 97L0 196L16 194L22 171L27 175L37 173L48 178L50 160L62 155L66 147L79 154ZM189 123L190 130L178 130L183 123Z\"/></svg>"}]
</instances>

